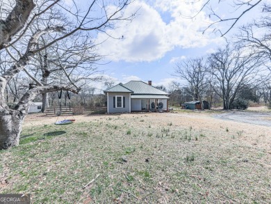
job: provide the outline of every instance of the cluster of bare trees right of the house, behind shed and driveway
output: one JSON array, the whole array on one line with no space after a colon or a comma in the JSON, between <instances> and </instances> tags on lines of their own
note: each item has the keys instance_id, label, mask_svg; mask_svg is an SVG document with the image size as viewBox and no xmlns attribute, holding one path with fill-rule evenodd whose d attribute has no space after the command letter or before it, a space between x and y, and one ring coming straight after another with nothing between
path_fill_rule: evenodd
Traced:
<instances>
[{"instance_id":1,"label":"cluster of bare trees right of the house, behind shed and driveway","mask_svg":"<svg viewBox=\"0 0 271 204\"><path fill-rule=\"evenodd\" d=\"M223 109L246 109L249 101L263 101L271 107L267 60L261 52L247 49L240 42L177 63L174 76L187 82L186 93L192 100L221 103Z\"/></svg>"}]
</instances>

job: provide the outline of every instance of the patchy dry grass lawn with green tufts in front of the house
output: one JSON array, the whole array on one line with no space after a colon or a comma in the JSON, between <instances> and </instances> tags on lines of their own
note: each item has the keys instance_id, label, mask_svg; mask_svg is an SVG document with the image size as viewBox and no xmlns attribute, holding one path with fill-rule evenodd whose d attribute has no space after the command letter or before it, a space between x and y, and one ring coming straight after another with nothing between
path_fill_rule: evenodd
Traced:
<instances>
[{"instance_id":1,"label":"patchy dry grass lawn with green tufts in front of the house","mask_svg":"<svg viewBox=\"0 0 271 204\"><path fill-rule=\"evenodd\" d=\"M62 126L28 116L20 146L0 151L0 192L33 203L271 203L271 128L212 115L76 116Z\"/></svg>"}]
</instances>

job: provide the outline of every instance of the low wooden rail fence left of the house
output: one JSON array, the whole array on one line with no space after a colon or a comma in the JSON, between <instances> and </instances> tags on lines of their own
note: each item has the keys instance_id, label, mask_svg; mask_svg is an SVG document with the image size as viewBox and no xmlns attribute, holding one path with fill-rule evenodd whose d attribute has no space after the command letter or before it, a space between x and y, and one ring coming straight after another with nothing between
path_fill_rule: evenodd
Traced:
<instances>
[{"instance_id":1,"label":"low wooden rail fence left of the house","mask_svg":"<svg viewBox=\"0 0 271 204\"><path fill-rule=\"evenodd\" d=\"M86 107L49 107L45 109L47 116L60 116L60 115L88 115L88 114L106 113L106 108L86 108Z\"/></svg>"}]
</instances>

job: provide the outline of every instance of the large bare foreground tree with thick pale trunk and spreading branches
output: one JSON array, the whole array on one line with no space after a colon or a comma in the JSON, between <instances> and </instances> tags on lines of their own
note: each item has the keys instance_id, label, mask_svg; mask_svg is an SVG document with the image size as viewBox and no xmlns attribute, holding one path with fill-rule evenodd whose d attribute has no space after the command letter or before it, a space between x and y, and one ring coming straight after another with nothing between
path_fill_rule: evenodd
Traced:
<instances>
[{"instance_id":1,"label":"large bare foreground tree with thick pale trunk and spreading branches","mask_svg":"<svg viewBox=\"0 0 271 204\"><path fill-rule=\"evenodd\" d=\"M33 58L46 49L53 49L54 45L59 45L67 39L72 40L76 34L84 36L88 33L89 36L93 36L99 31L106 32L108 27L113 28L118 20L133 17L124 17L122 13L123 8L130 3L129 0L115 1L114 6L110 4L113 1L93 0L85 11L76 10L76 5L69 6L65 4L65 1L60 0L37 1L36 5L33 0L16 0L15 2L13 7L9 4L3 5L5 8L2 8L3 14L1 13L0 19L0 50L5 50L13 59L10 68L0 76L0 148L3 149L19 144L19 135L23 120L28 113L28 105L37 95L58 90L73 93L80 91L80 87L76 85L78 77L72 77L71 72L67 72L66 68L61 70L64 74L55 75L57 80L54 84L42 84L29 70ZM39 27L33 29L37 17L44 17L42 18L44 22L51 20L48 17L49 13L54 13L54 8L61 13L66 13L64 15L70 21L62 24L61 21L54 20L54 23L49 26L40 24ZM41 43L42 37L48 39L44 44ZM6 86L22 71L32 83L20 97L15 109L10 109L5 100ZM80 75L80 73L77 74Z\"/></svg>"}]
</instances>

